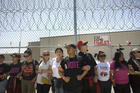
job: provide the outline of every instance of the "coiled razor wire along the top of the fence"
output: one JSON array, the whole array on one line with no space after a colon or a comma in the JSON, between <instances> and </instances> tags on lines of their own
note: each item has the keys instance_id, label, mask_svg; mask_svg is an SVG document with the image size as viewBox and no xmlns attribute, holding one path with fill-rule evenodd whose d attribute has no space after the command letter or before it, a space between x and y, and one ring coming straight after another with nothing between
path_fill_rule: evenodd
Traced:
<instances>
[{"instance_id":1,"label":"coiled razor wire along the top of the fence","mask_svg":"<svg viewBox=\"0 0 140 93\"><path fill-rule=\"evenodd\" d=\"M72 0L1 0L1 32L73 30ZM137 29L139 0L77 0L78 30Z\"/></svg>"}]
</instances>

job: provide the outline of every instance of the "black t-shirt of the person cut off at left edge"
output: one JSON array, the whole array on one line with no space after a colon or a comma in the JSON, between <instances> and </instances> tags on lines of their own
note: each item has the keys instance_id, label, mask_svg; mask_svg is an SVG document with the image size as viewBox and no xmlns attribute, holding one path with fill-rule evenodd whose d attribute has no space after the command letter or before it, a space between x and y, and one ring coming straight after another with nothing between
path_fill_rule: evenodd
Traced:
<instances>
[{"instance_id":1,"label":"black t-shirt of the person cut off at left edge","mask_svg":"<svg viewBox=\"0 0 140 93\"><path fill-rule=\"evenodd\" d=\"M2 80L2 79L1 79L2 77L1 77L1 76L2 76L3 74L6 74L6 73L9 72L9 69L10 69L10 67L9 67L8 64L5 64L5 63L0 64L0 80Z\"/></svg>"}]
</instances>

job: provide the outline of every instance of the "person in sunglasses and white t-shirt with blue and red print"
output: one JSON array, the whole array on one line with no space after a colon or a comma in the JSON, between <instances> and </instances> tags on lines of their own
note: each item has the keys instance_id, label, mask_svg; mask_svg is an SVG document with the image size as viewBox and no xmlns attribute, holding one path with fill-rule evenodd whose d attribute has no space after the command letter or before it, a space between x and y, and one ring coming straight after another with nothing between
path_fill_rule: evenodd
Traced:
<instances>
[{"instance_id":1,"label":"person in sunglasses and white t-shirt with blue and red print","mask_svg":"<svg viewBox=\"0 0 140 93\"><path fill-rule=\"evenodd\" d=\"M110 64L106 61L106 54L99 51L97 54L97 75L100 93L111 93Z\"/></svg>"}]
</instances>

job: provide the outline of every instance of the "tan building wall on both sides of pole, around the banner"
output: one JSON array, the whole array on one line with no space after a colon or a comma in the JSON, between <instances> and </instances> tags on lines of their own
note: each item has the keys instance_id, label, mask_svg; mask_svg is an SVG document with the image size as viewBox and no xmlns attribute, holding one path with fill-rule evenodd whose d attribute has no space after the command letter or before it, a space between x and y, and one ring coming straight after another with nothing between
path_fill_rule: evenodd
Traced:
<instances>
[{"instance_id":1,"label":"tan building wall on both sides of pole, around the banner","mask_svg":"<svg viewBox=\"0 0 140 93\"><path fill-rule=\"evenodd\" d=\"M114 48L108 46L94 46L94 36L109 36L111 44ZM88 41L89 52L91 54L98 51L104 51L107 54L107 60L112 60L114 52L118 48L119 44L122 44L125 48L124 56L129 58L129 52L134 47L140 47L140 31L127 31L127 32L112 32L112 33L100 33L100 34L84 34L78 35L78 40ZM132 44L127 46L126 41L130 41ZM51 52L51 57L55 56L54 50L56 47L62 47L64 49L65 44L74 43L74 36L57 36L57 37L45 37L40 39L40 46L46 47L40 49L40 55L44 49L48 49ZM64 49L64 56L66 56L66 49Z\"/></svg>"}]
</instances>

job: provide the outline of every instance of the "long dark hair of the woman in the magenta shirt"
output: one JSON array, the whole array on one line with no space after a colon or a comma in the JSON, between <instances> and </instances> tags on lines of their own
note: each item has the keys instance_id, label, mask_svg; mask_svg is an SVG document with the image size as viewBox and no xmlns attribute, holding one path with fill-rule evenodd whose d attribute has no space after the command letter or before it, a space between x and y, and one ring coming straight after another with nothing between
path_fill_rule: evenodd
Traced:
<instances>
[{"instance_id":1,"label":"long dark hair of the woman in the magenta shirt","mask_svg":"<svg viewBox=\"0 0 140 93\"><path fill-rule=\"evenodd\" d=\"M120 61L119 61L119 58L120 58L121 56L123 56L123 52L121 52L121 51L115 52L115 55L114 55L114 58L113 58L113 60L114 60L114 62L115 62L115 69L117 69L117 68L122 68L122 66L121 66L121 64L120 64ZM125 61L124 58L123 58L123 61L122 61L121 63L124 64L124 65L126 65L126 66L128 67L127 62Z\"/></svg>"}]
</instances>

